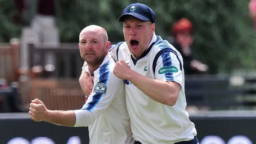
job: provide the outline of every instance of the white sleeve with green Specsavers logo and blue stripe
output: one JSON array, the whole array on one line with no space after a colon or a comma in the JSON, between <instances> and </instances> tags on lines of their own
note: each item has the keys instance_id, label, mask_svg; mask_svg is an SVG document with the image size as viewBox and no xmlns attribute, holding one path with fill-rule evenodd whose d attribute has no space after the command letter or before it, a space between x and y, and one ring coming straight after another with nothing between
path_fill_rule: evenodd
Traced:
<instances>
[{"instance_id":1,"label":"white sleeve with green Specsavers logo and blue stripe","mask_svg":"<svg viewBox=\"0 0 256 144\"><path fill-rule=\"evenodd\" d=\"M157 59L157 80L177 82L182 86L182 58L174 50L162 52Z\"/></svg>"}]
</instances>

